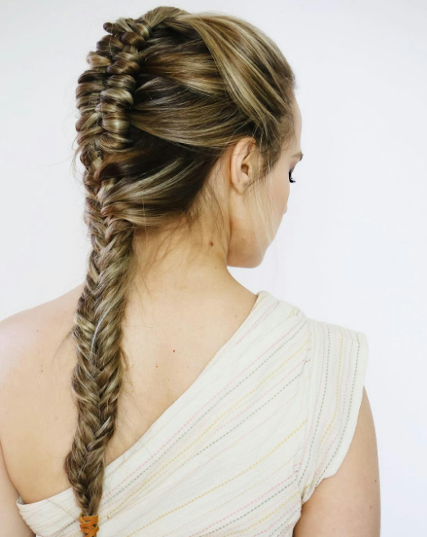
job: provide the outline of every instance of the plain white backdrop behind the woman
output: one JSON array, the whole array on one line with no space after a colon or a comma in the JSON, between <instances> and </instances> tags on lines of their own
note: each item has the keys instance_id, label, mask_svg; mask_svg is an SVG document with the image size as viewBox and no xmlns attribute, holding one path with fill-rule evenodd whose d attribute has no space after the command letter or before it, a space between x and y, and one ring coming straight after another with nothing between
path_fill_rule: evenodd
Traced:
<instances>
[{"instance_id":1,"label":"plain white backdrop behind the woman","mask_svg":"<svg viewBox=\"0 0 427 537\"><path fill-rule=\"evenodd\" d=\"M157 3L2 0L0 318L85 278L75 89L105 21ZM230 268L317 320L363 331L381 534L421 535L427 499L427 3L181 1L259 26L296 72L303 161L263 263ZM78 162L79 164L79 162Z\"/></svg>"}]
</instances>

